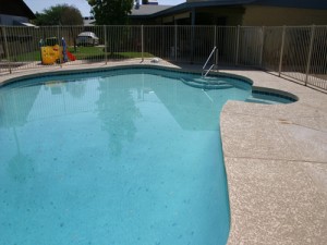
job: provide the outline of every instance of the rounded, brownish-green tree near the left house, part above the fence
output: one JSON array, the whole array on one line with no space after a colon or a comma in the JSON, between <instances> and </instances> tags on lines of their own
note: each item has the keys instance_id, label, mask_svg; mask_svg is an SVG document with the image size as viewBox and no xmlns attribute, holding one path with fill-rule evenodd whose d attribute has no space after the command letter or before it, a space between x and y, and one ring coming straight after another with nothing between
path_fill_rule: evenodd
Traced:
<instances>
[{"instance_id":1,"label":"rounded, brownish-green tree near the left house, part above the fence","mask_svg":"<svg viewBox=\"0 0 327 245\"><path fill-rule=\"evenodd\" d=\"M81 11L73 5L57 4L45 9L44 13L36 13L36 25L82 25Z\"/></svg>"}]
</instances>

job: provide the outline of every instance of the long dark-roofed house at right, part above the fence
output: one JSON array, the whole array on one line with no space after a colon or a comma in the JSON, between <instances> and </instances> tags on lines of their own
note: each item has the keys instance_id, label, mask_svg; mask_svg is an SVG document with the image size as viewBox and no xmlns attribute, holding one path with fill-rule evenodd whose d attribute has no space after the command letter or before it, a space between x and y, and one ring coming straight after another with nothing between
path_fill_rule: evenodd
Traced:
<instances>
[{"instance_id":1,"label":"long dark-roofed house at right, part above the fence","mask_svg":"<svg viewBox=\"0 0 327 245\"><path fill-rule=\"evenodd\" d=\"M154 5L156 7L156 5ZM160 5L157 5L160 7ZM326 25L327 1L322 0L187 0L165 10L137 14L131 20L164 25Z\"/></svg>"}]
</instances>

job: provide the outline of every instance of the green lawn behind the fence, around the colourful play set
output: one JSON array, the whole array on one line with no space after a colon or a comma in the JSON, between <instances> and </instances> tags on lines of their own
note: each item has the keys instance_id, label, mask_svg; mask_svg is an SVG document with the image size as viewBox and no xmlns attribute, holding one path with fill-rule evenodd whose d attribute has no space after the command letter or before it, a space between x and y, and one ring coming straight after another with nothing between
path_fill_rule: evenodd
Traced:
<instances>
[{"instance_id":1,"label":"green lawn behind the fence, around the colourful play set","mask_svg":"<svg viewBox=\"0 0 327 245\"><path fill-rule=\"evenodd\" d=\"M94 60L104 59L106 57L104 47L69 47L68 50L76 57L77 60ZM144 52L144 58L154 57L152 53ZM108 59L133 59L142 58L142 52L113 52L107 51ZM11 61L14 62L25 62L25 61L40 61L40 50L26 52L17 56L12 56Z\"/></svg>"}]
</instances>

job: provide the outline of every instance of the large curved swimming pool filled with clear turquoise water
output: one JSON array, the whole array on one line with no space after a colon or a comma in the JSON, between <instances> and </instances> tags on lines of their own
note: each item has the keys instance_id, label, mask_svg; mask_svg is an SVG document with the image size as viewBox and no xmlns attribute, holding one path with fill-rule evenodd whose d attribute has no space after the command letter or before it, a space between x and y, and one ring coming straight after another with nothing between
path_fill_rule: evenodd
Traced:
<instances>
[{"instance_id":1,"label":"large curved swimming pool filled with clear turquoise water","mask_svg":"<svg viewBox=\"0 0 327 245\"><path fill-rule=\"evenodd\" d=\"M0 244L226 244L219 113L251 84L158 69L0 88Z\"/></svg>"}]
</instances>

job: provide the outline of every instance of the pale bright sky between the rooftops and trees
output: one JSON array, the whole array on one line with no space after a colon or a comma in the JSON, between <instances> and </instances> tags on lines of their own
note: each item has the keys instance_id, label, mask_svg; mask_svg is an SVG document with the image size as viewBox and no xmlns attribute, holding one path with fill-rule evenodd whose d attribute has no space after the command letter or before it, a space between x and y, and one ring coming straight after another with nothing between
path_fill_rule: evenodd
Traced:
<instances>
[{"instance_id":1,"label":"pale bright sky between the rooftops and trees","mask_svg":"<svg viewBox=\"0 0 327 245\"><path fill-rule=\"evenodd\" d=\"M90 7L87 3L87 0L24 0L28 8L35 12L43 12L44 9L57 4L69 4L76 7L83 16L89 16ZM142 0L140 0L142 2ZM185 2L185 0L158 0L160 5L177 5Z\"/></svg>"}]
</instances>

